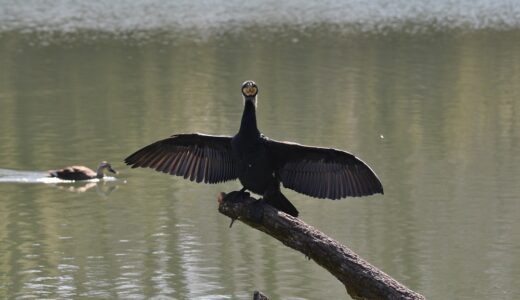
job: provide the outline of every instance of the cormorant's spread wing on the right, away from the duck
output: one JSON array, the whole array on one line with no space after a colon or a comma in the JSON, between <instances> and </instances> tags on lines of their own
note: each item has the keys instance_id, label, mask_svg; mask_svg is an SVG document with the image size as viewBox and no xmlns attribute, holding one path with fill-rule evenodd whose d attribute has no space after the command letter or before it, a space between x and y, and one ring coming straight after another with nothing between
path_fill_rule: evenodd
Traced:
<instances>
[{"instance_id":1,"label":"cormorant's spread wing on the right, away from the duck","mask_svg":"<svg viewBox=\"0 0 520 300\"><path fill-rule=\"evenodd\" d=\"M348 152L269 139L265 143L286 188L328 199L383 194L374 171Z\"/></svg>"}]
</instances>

